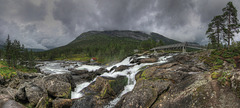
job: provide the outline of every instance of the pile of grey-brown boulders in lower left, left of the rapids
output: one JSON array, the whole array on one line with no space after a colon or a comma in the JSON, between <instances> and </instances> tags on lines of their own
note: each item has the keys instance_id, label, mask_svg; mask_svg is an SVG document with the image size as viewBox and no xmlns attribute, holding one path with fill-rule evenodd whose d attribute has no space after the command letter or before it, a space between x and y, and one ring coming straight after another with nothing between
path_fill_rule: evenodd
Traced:
<instances>
[{"instance_id":1,"label":"pile of grey-brown boulders in lower left, left of the rapids","mask_svg":"<svg viewBox=\"0 0 240 108\"><path fill-rule=\"evenodd\" d=\"M0 102L4 108L24 108L22 104L36 108L52 107L52 100L69 99L74 87L71 74L45 76L18 72L11 81L1 85L0 97L5 98L0 98Z\"/></svg>"}]
</instances>

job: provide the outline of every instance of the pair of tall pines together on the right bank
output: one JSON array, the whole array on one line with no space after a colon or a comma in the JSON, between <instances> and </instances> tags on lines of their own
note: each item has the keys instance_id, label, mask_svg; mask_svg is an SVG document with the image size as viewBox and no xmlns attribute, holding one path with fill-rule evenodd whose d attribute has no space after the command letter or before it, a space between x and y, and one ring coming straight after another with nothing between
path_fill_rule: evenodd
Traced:
<instances>
[{"instance_id":1,"label":"pair of tall pines together on the right bank","mask_svg":"<svg viewBox=\"0 0 240 108\"><path fill-rule=\"evenodd\" d=\"M228 2L222 9L223 14L215 16L208 24L206 35L210 40L210 48L220 48L225 45L229 48L235 33L239 33L237 9L232 2Z\"/></svg>"}]
</instances>

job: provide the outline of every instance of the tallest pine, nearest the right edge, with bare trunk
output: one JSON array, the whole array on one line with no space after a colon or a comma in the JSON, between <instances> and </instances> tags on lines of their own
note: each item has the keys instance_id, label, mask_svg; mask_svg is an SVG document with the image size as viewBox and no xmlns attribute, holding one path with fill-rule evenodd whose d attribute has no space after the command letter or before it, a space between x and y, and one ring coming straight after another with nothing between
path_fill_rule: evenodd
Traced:
<instances>
[{"instance_id":1,"label":"tallest pine, nearest the right edge, with bare trunk","mask_svg":"<svg viewBox=\"0 0 240 108\"><path fill-rule=\"evenodd\" d=\"M230 41L233 40L234 33L239 32L239 20L237 19L237 9L233 6L232 2L228 2L227 6L222 9L223 11L223 19L226 24L226 29L224 32L227 36L224 38L228 47L230 46Z\"/></svg>"}]
</instances>

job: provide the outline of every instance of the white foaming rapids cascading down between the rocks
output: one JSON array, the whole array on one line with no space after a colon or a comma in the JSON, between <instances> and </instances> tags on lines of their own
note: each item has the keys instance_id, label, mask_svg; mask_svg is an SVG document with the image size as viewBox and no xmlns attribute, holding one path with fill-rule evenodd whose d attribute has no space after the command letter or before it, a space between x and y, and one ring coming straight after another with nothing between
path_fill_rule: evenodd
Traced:
<instances>
[{"instance_id":1,"label":"white foaming rapids cascading down between the rocks","mask_svg":"<svg viewBox=\"0 0 240 108\"><path fill-rule=\"evenodd\" d=\"M117 63L115 65L112 66L108 66L106 67L107 70L111 70L113 67L118 67L121 65L128 65L128 66L132 66L129 69L123 70L123 71L119 71L119 72L115 72L114 70L112 70L111 72L107 73L103 73L100 76L106 76L106 77L112 77L112 78L116 78L117 76L121 75L121 76L126 76L128 78L128 84L124 87L124 90L122 91L122 93L115 98L114 100L112 100L109 105L105 106L105 108L112 108L114 107L117 102L121 99L121 97L126 94L127 92L130 92L133 90L135 84L136 84L136 80L135 80L135 75L140 71L139 69L141 67L147 66L147 65L153 65L153 64L162 64L167 62L167 59L170 58L172 56L162 56L159 58L158 62L155 63L142 63L140 65L137 64L131 64L131 57L127 57L126 59L124 59L122 62ZM147 56L141 56L138 58L147 58ZM61 74L61 73L67 73L70 72L69 69L77 69L77 70L88 70L88 71L95 71L101 68L101 66L91 66L91 65L82 65L81 62L43 62L42 65L39 65L40 69L42 72L47 73L47 74ZM89 84L91 84L92 82L94 82L96 80L96 78L90 82L84 82L81 83L79 85L77 85L77 87L74 89L74 91L72 91L71 93L71 98L72 99L76 99L76 98L80 98L83 96L83 94L80 92L82 89L84 89L85 87L87 87Z\"/></svg>"}]
</instances>

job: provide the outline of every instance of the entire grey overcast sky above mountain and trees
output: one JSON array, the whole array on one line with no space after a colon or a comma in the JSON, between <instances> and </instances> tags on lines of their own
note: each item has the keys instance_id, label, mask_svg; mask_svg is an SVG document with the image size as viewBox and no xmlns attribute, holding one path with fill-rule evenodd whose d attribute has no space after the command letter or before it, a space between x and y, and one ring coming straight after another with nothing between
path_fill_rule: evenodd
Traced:
<instances>
[{"instance_id":1,"label":"entire grey overcast sky above mountain and trees","mask_svg":"<svg viewBox=\"0 0 240 108\"><path fill-rule=\"evenodd\" d=\"M0 41L29 48L65 45L90 30L157 32L207 43L207 24L228 0L0 0ZM240 1L232 1L240 19ZM237 40L240 40L238 35Z\"/></svg>"}]
</instances>

